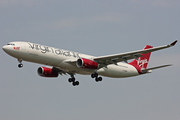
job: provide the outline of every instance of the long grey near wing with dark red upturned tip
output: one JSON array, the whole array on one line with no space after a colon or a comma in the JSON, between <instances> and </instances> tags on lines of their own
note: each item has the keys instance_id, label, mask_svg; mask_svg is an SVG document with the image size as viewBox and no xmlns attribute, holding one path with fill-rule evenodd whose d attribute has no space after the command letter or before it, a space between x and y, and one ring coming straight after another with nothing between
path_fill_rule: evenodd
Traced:
<instances>
[{"instance_id":1,"label":"long grey near wing with dark red upturned tip","mask_svg":"<svg viewBox=\"0 0 180 120\"><path fill-rule=\"evenodd\" d=\"M150 49L144 49L144 50L138 50L138 51L108 55L108 56L94 57L94 60L98 64L100 64L101 67L105 67L109 64L117 64L117 62L122 62L122 61L127 62L127 60L130 60L130 59L138 59L139 57L142 56L142 54L172 47L176 44L176 42L177 42L177 40L172 42L169 45L154 47L154 48L150 48Z\"/></svg>"}]
</instances>

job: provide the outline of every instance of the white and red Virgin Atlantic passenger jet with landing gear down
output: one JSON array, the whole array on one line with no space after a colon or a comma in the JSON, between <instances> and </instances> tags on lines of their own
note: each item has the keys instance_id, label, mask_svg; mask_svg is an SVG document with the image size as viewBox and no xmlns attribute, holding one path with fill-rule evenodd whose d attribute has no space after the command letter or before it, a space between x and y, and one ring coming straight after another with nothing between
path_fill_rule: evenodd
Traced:
<instances>
[{"instance_id":1,"label":"white and red Virgin Atlantic passenger jet with landing gear down","mask_svg":"<svg viewBox=\"0 0 180 120\"><path fill-rule=\"evenodd\" d=\"M75 80L75 74L91 75L98 82L102 81L102 77L99 75L112 78L132 77L151 73L153 69L170 66L147 68L151 52L172 47L176 42L177 40L169 45L155 48L146 45L143 50L99 57L30 42L10 42L3 46L3 50L18 59L19 68L23 67L22 61L49 65L52 67L39 67L38 74L42 77L58 77L59 74L69 74L71 77L68 81L76 86L79 85L79 82ZM130 59L134 60L128 63Z\"/></svg>"}]
</instances>

